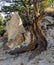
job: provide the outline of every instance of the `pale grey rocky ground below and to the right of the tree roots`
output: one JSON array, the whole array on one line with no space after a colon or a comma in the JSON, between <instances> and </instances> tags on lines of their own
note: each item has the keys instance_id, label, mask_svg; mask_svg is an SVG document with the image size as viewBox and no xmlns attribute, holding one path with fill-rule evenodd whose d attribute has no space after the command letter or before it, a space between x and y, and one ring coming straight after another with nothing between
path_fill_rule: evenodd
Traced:
<instances>
[{"instance_id":1,"label":"pale grey rocky ground below and to the right of the tree roots","mask_svg":"<svg viewBox=\"0 0 54 65\"><path fill-rule=\"evenodd\" d=\"M18 55L9 55L0 49L0 65L54 65L54 26L49 26L47 29L48 22L43 22L44 24L43 32L48 41L46 51L40 53L34 50ZM0 45L2 43L0 42Z\"/></svg>"}]
</instances>

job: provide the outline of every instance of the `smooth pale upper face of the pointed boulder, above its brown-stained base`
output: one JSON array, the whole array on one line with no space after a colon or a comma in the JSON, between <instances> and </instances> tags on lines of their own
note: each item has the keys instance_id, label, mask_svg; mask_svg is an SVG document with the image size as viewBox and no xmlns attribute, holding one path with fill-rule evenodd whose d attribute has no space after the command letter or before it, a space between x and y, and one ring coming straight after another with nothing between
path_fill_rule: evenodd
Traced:
<instances>
[{"instance_id":1,"label":"smooth pale upper face of the pointed boulder, above its brown-stained base","mask_svg":"<svg viewBox=\"0 0 54 65\"><path fill-rule=\"evenodd\" d=\"M25 29L22 25L22 20L16 12L12 15L11 20L7 23L6 26L8 33L8 40L14 39L17 33L24 33Z\"/></svg>"}]
</instances>

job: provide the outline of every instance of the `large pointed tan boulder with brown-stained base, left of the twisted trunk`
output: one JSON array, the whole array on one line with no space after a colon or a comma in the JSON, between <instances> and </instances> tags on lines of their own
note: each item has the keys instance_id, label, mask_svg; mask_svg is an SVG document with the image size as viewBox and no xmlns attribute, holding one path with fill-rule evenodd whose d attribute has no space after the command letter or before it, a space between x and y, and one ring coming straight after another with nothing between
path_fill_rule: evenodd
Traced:
<instances>
[{"instance_id":1,"label":"large pointed tan boulder with brown-stained base, left of the twisted trunk","mask_svg":"<svg viewBox=\"0 0 54 65\"><path fill-rule=\"evenodd\" d=\"M25 47L31 42L31 33L25 30L22 20L16 12L7 23L6 29L8 34L7 46L10 49Z\"/></svg>"}]
</instances>

